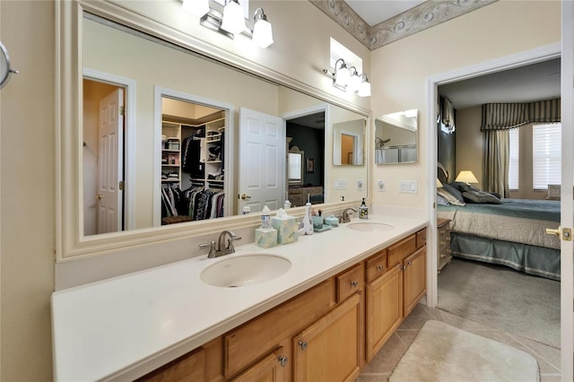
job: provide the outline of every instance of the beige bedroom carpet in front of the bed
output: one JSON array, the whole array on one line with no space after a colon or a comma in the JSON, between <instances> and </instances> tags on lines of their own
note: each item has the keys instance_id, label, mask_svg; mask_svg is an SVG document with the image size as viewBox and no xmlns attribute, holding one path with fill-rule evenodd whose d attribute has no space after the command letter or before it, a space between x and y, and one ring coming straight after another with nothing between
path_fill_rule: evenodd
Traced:
<instances>
[{"instance_id":1,"label":"beige bedroom carpet in front of the bed","mask_svg":"<svg viewBox=\"0 0 574 382\"><path fill-rule=\"evenodd\" d=\"M560 282L455 257L437 308L560 349Z\"/></svg>"}]
</instances>

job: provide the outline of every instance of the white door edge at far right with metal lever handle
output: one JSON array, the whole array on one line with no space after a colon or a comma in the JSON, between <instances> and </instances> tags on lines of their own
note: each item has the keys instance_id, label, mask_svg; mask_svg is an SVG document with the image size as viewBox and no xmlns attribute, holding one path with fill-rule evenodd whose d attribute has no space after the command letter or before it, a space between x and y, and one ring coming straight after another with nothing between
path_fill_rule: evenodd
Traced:
<instances>
[{"instance_id":1,"label":"white door edge at far right with metal lever handle","mask_svg":"<svg viewBox=\"0 0 574 382\"><path fill-rule=\"evenodd\" d=\"M562 184L561 227L574 227L572 184L574 183L574 5L562 1L562 52L561 52L561 124L562 124ZM563 233L563 231L562 231ZM562 235L561 239L561 380L574 380L574 246Z\"/></svg>"}]
</instances>

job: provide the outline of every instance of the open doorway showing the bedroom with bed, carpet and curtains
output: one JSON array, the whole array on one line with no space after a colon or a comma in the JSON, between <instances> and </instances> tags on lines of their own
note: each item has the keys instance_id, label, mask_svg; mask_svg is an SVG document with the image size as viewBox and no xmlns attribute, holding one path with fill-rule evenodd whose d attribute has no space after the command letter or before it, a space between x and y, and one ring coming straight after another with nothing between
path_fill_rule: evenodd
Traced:
<instances>
[{"instance_id":1,"label":"open doorway showing the bedroom with bed, carpet and curtains","mask_svg":"<svg viewBox=\"0 0 574 382\"><path fill-rule=\"evenodd\" d=\"M552 81L553 86L557 88L557 93L532 94L530 97L534 98L522 100L513 98L510 94L507 103L529 104L558 99L557 102L551 102L551 108L556 104L560 108L561 59L559 54L548 54L544 59L538 57L531 62L532 64L527 67L524 65L514 70L516 72L546 70L547 73L544 74L546 78L554 77ZM489 82L489 76L498 77L497 81L500 82L502 76L511 74L509 70L493 73L496 71L494 69L485 71L490 72L489 74L476 76L471 80L456 81L457 78L463 76L457 77L453 74L448 80L437 81L442 83L438 87L439 100L433 102L434 105L440 105L438 114L441 116L433 129L433 134L437 139L437 152L433 163L439 163L435 167L439 179L436 196L437 217L439 218L436 230L436 242L439 248L436 261L439 268L436 307L459 317L471 319L480 325L499 329L504 336L499 341L518 347L529 346L535 352L548 354L546 359L539 360L541 369L544 369L546 374L560 376L561 283L558 280L561 275L561 243L560 239L548 236L544 232L547 226L557 228L560 224L560 201L547 202L546 189L534 190L526 196L521 196L519 193L519 188L523 187L523 183L529 181L532 184L533 178L534 128L530 123L525 124L527 128L521 132L518 139L515 136L513 140L513 143L518 143L518 154L521 156L519 157L521 161L514 163L514 169L517 164L520 165L518 170L518 176L522 178L520 187L513 190L504 188L492 190L490 182L485 181L491 173L488 168L483 168L482 161L484 146L489 144L487 137L483 136L487 134L481 131L483 104L494 101L489 99L488 91L481 92L476 88L474 88L474 94L480 93L483 97L474 101L465 99L465 88L477 86L477 83L485 85ZM521 75L524 78L525 74ZM468 77L469 75L465 75L465 78ZM535 77L532 78L535 79ZM505 82L507 88L509 88L508 83L508 81ZM500 91L496 94L500 95ZM526 97L525 91L517 91L517 94ZM449 107L452 109L448 110ZM550 117L555 115L558 116L558 122L560 122L560 109L557 112L554 110ZM453 123L448 118L445 120L442 116L454 116L455 122ZM555 122L552 120L552 124ZM509 131L511 130L508 129L503 134L488 134L506 135L502 137L502 139L507 139L507 141L502 141L506 145L510 143ZM556 142L551 140L550 143ZM530 150L525 149L528 147ZM555 151L549 150L548 156L554 153ZM513 158L516 159L516 147L514 154ZM498 153L498 155L508 155L508 159L504 157L502 159L510 161L508 151ZM527 161L530 163L524 164ZM561 166L558 167L558 171L560 169ZM474 180L461 181L459 174L463 170L471 171ZM506 170L508 171L508 168ZM556 183L556 180L552 180L552 183ZM548 184L552 183L549 181ZM453 188L454 191L452 191ZM451 200L445 197L447 190L452 191L448 193L451 194ZM491 192L486 193L486 191ZM473 193L486 197L488 200L493 200L490 199L491 196L498 196L497 199L500 201L488 204L476 203L480 202L480 199L473 200L473 195L471 195ZM488 195L481 195L481 193ZM509 217L488 210L491 203L492 205L493 203L504 204L502 201L513 197L524 198L526 204L535 204L538 210L534 214L540 219L532 227L528 225L528 219L525 216L521 216L518 222L514 222ZM466 204L468 202L471 203ZM547 207L546 204L552 204L552 208ZM477 223L476 215L472 215L468 211L470 208L466 205L470 208L482 209L481 213L490 215L483 223L487 230L492 230L492 227L498 225L498 229L494 228L497 232L491 235L482 230ZM551 210L553 214L550 213ZM526 214L533 213L526 212ZM457 221L454 221L455 217ZM463 220L459 219L461 217ZM465 218L467 221L464 220ZM549 221L553 225L550 225ZM509 233L511 227L516 227L517 230ZM471 231L461 231L464 229L471 229ZM446 236L448 239L445 239L443 230L448 232ZM509 235L524 234L526 238L496 236L507 233ZM448 240L448 244L441 246L445 240ZM532 242L533 240L539 240L539 242ZM441 251L441 247L447 247L448 252ZM452 260L444 260L451 255L454 255ZM432 303L432 295L429 300Z\"/></svg>"}]
</instances>

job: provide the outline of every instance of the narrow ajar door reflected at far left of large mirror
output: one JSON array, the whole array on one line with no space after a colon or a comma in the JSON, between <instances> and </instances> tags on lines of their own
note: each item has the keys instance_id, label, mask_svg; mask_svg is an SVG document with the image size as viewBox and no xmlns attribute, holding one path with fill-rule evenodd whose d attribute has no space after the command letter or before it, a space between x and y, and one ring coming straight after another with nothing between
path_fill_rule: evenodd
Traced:
<instances>
[{"instance_id":1,"label":"narrow ajar door reflected at far left of large mirror","mask_svg":"<svg viewBox=\"0 0 574 382\"><path fill-rule=\"evenodd\" d=\"M117 89L100 100L100 155L98 169L98 233L122 229L124 91Z\"/></svg>"}]
</instances>

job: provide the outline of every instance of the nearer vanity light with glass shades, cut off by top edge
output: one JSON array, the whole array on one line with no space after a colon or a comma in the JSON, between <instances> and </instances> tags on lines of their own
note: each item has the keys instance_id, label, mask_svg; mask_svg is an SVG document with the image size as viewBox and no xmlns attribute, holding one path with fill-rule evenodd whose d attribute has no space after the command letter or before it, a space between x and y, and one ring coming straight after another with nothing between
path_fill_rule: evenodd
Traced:
<instances>
[{"instance_id":1,"label":"nearer vanity light with glass shades, cut off by top edge","mask_svg":"<svg viewBox=\"0 0 574 382\"><path fill-rule=\"evenodd\" d=\"M271 22L267 21L263 8L256 9L253 16L253 30L249 30L239 0L182 1L183 10L199 17L199 23L205 28L219 32L230 39L235 39L239 33L244 33L251 37L259 48L267 48L274 42Z\"/></svg>"}]
</instances>

